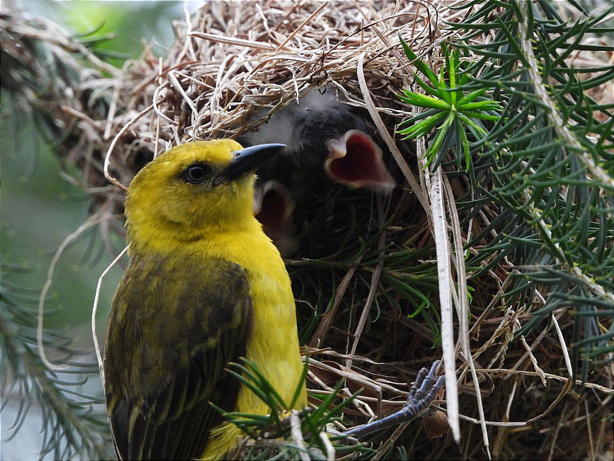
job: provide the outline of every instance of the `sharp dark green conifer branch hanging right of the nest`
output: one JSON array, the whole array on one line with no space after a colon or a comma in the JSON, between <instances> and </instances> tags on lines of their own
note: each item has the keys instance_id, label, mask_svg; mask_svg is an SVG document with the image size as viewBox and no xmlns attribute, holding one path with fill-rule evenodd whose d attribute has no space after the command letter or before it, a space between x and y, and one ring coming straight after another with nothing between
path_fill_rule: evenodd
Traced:
<instances>
[{"instance_id":1,"label":"sharp dark green conifer branch hanging right of the nest","mask_svg":"<svg viewBox=\"0 0 614 461\"><path fill-rule=\"evenodd\" d=\"M507 302L529 311L535 301L542 304L519 335L530 334L560 307L588 315L588 323L587 317L575 317L572 354L579 357L575 341L583 331L585 378L586 360L595 358L592 348L613 337L597 336L599 319L607 318L600 307L614 306L613 106L596 103L587 92L614 75L614 66L593 65L596 76L580 79L586 71L569 67L566 58L586 49L582 43L588 34L608 30L597 26L608 10L565 22L547 2L510 1L497 7L496 15L495 6L486 4L465 23L453 25L465 34L456 46L475 55L468 72L476 77L467 90L492 87L504 104L488 136L474 143L482 149L473 149L481 172L472 181L476 200L465 203L465 209L474 207L472 217L476 209L483 210L492 219L468 242L470 248L489 240L467 264L481 267L475 277L510 261L508 270L516 281ZM492 39L472 45L470 39L486 30ZM480 195L500 207L499 216ZM540 286L547 291L541 303L534 299Z\"/></svg>"}]
</instances>

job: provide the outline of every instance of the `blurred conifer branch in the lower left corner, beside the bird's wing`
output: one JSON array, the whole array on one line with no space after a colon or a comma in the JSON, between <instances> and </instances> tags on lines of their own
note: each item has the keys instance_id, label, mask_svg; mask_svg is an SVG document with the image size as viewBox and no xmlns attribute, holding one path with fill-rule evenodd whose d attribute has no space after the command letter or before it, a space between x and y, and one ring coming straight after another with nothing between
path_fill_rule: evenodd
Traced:
<instances>
[{"instance_id":1,"label":"blurred conifer branch in the lower left corner, beside the bird's wing","mask_svg":"<svg viewBox=\"0 0 614 461\"><path fill-rule=\"evenodd\" d=\"M16 419L9 428L20 430L26 414L33 406L42 412L45 434L41 459L52 454L55 459L72 457L112 457L111 436L106 424L104 397L88 396L72 388L84 385L88 376L96 377L94 363L71 361L79 357L70 341L57 334L45 333L44 345L70 364L66 371L49 371L37 354L36 316L23 305L11 301L6 286L2 290L0 308L0 345L3 406L19 401Z\"/></svg>"}]
</instances>

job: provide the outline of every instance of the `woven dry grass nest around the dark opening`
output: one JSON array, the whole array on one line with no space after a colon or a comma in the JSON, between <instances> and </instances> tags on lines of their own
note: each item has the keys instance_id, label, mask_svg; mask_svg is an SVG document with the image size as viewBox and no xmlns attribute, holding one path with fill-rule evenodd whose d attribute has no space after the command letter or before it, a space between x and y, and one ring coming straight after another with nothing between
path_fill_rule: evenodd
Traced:
<instances>
[{"instance_id":1,"label":"woven dry grass nest around the dark opening","mask_svg":"<svg viewBox=\"0 0 614 461\"><path fill-rule=\"evenodd\" d=\"M266 120L254 119L256 112L265 108L272 115L324 87L365 109L397 187L387 197L343 186L309 195L297 204L297 246L286 255L300 341L311 354L308 385L330 392L345 377L347 395L364 387L346 413L356 424L397 409L418 369L441 357L435 247L420 200L424 192L408 183L420 175L416 146L395 130L413 115L397 94L414 85L398 36L437 69L438 44L451 34L444 19L460 20L453 9L424 2L208 2L188 23L175 25L168 57L146 52L104 81L113 96L106 120L80 117L88 140L96 138L106 150L104 168L91 168L89 180L104 188L95 207L111 214L121 210L123 192L108 187L103 170L127 186L139 168L171 146L257 130ZM82 166L96 165L76 155L72 160ZM456 198L465 186L462 179L452 181ZM481 219L495 215L477 216L473 225L479 229ZM118 219L111 227L121 233L122 226ZM548 451L542 444L556 441L558 453L583 457L585 444L577 441L589 438L591 425L576 418L592 403L586 393L563 392L558 374L564 358L548 350L558 343L553 331L532 347L511 339L517 318L497 297L505 292L506 264L470 282L470 345L483 369L479 392L486 420L500 423L489 427L491 449L500 459L528 459L542 457L537 451ZM550 373L548 386L533 372L532 359ZM434 427L441 424L436 413L394 435L416 459L486 456L475 423L476 389L460 357L457 366L465 417L461 444L446 433L445 423L444 430ZM531 419L506 427L508 420ZM379 434L376 442L391 435Z\"/></svg>"}]
</instances>

